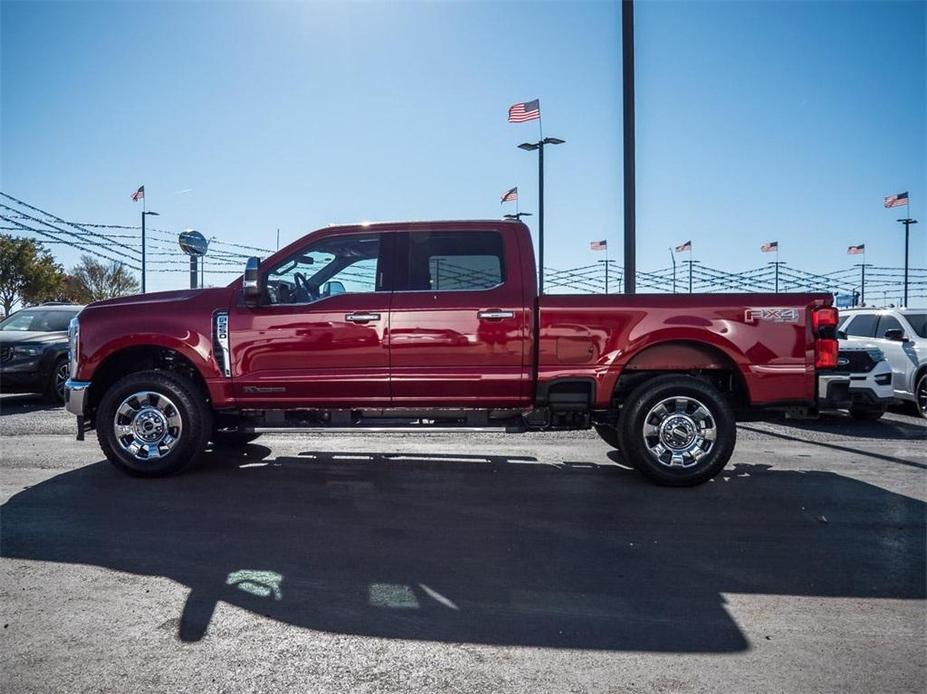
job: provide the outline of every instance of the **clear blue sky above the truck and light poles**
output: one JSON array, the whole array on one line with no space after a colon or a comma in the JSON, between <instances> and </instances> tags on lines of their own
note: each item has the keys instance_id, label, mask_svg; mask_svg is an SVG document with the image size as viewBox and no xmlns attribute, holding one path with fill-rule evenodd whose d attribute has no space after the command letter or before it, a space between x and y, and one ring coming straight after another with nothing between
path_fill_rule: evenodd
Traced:
<instances>
[{"instance_id":1,"label":"clear blue sky above the truck and light poles","mask_svg":"<svg viewBox=\"0 0 927 694\"><path fill-rule=\"evenodd\" d=\"M0 189L68 219L273 247L333 222L535 210L553 267L621 249L616 3L3 2ZM902 263L927 208L923 2L637 4L638 265ZM179 192L187 191L187 192ZM925 264L927 218L913 234ZM66 264L76 254L61 252ZM182 274L151 288L183 286ZM212 281L220 281L218 279Z\"/></svg>"}]
</instances>

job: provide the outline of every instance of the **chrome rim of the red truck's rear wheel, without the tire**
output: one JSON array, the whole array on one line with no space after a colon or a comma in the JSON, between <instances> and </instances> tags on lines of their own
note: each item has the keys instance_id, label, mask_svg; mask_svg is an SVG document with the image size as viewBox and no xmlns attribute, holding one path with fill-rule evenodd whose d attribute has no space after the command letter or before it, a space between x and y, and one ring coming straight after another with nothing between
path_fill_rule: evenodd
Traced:
<instances>
[{"instance_id":1,"label":"chrome rim of the red truck's rear wheel, without the tire","mask_svg":"<svg viewBox=\"0 0 927 694\"><path fill-rule=\"evenodd\" d=\"M717 435L714 415L695 398L666 398L644 418L644 446L656 462L668 468L698 465L714 448Z\"/></svg>"}]
</instances>

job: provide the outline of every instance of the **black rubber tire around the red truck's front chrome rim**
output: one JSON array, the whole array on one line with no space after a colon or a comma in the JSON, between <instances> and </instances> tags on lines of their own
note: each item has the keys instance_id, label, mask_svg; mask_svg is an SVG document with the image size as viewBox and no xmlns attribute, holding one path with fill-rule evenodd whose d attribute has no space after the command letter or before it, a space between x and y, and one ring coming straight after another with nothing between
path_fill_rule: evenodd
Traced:
<instances>
[{"instance_id":1,"label":"black rubber tire around the red truck's front chrome rim","mask_svg":"<svg viewBox=\"0 0 927 694\"><path fill-rule=\"evenodd\" d=\"M116 433L117 410L129 402L130 396L140 392L159 396L155 400L160 406L166 401L165 411L175 412L181 423L180 429L173 430L177 436L171 437L169 449L153 459L140 459L126 450L121 441L132 438L132 434L120 439ZM134 402L140 405L138 409L133 410L132 405L129 409L137 413L142 409L154 409L151 399L146 399L145 403L137 399ZM120 419L134 421L124 416ZM180 472L202 454L212 433L212 412L203 394L189 379L169 371L141 371L119 379L103 394L97 409L96 430L104 455L120 470L138 477L164 477ZM170 431L168 429L168 433ZM167 443L157 444L158 448L162 445L166 447Z\"/></svg>"}]
</instances>

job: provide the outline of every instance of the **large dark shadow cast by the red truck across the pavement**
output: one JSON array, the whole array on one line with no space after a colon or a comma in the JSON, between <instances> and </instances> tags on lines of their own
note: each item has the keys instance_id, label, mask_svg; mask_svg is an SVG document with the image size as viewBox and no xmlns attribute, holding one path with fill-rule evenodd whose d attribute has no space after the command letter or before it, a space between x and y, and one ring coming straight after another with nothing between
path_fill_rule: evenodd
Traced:
<instances>
[{"instance_id":1,"label":"large dark shadow cast by the red truck across the pavement","mask_svg":"<svg viewBox=\"0 0 927 694\"><path fill-rule=\"evenodd\" d=\"M925 597L925 504L834 473L741 464L676 490L582 461L269 456L58 475L3 506L2 555L182 582L185 641L222 600L345 634L736 652L724 593Z\"/></svg>"}]
</instances>

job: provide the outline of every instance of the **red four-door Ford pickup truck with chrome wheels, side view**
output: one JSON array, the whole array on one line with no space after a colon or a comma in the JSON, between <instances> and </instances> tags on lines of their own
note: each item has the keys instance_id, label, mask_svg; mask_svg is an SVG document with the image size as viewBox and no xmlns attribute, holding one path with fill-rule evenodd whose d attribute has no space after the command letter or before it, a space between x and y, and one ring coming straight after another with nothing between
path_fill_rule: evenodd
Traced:
<instances>
[{"instance_id":1,"label":"red four-door Ford pickup truck with chrome wheels, side view","mask_svg":"<svg viewBox=\"0 0 927 694\"><path fill-rule=\"evenodd\" d=\"M688 486L735 411L812 408L837 357L829 294L537 294L514 221L321 229L224 288L85 308L70 330L78 437L143 476L262 432L594 428Z\"/></svg>"}]
</instances>

